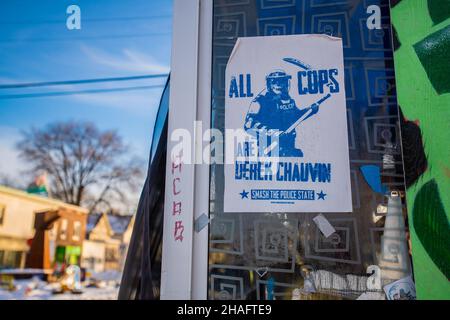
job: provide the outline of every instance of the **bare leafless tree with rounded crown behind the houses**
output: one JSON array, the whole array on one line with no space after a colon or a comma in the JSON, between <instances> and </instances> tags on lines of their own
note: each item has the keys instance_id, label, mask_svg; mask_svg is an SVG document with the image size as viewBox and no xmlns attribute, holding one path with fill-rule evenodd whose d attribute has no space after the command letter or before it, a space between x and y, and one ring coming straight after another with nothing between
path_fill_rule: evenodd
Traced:
<instances>
[{"instance_id":1,"label":"bare leafless tree with rounded crown behind the houses","mask_svg":"<svg viewBox=\"0 0 450 320\"><path fill-rule=\"evenodd\" d=\"M89 122L57 122L22 133L20 156L45 170L52 196L91 210L112 209L136 191L143 165L115 130Z\"/></svg>"}]
</instances>

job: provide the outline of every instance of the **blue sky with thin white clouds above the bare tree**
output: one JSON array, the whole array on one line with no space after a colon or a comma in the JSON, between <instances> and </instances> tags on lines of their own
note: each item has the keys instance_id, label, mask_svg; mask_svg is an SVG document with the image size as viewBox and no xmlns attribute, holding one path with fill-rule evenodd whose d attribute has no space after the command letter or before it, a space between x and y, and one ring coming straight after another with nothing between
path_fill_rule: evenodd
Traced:
<instances>
[{"instance_id":1,"label":"blue sky with thin white clouds above the bare tree","mask_svg":"<svg viewBox=\"0 0 450 320\"><path fill-rule=\"evenodd\" d=\"M66 28L66 8L81 8L81 30ZM2 0L0 85L168 73L172 0ZM163 84L164 79L0 89L1 95ZM26 99L0 97L0 174L20 179L20 131L87 120L117 129L148 159L162 88Z\"/></svg>"}]
</instances>

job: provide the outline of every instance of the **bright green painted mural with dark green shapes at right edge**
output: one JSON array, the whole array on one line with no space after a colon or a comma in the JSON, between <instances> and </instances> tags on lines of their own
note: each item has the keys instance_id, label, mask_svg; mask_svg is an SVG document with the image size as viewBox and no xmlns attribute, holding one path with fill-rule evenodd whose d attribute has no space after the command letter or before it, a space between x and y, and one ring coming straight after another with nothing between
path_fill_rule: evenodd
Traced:
<instances>
[{"instance_id":1,"label":"bright green painted mural with dark green shapes at right edge","mask_svg":"<svg viewBox=\"0 0 450 320\"><path fill-rule=\"evenodd\" d=\"M391 6L417 298L449 299L450 2Z\"/></svg>"}]
</instances>

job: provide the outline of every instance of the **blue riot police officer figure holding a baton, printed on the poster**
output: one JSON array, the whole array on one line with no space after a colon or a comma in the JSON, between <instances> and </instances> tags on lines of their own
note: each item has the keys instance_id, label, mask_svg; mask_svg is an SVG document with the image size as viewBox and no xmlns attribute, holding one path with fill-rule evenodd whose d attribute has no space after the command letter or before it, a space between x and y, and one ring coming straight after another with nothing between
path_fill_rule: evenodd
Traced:
<instances>
[{"instance_id":1,"label":"blue riot police officer figure holding a baton, printed on the poster","mask_svg":"<svg viewBox=\"0 0 450 320\"><path fill-rule=\"evenodd\" d=\"M244 129L258 139L258 145L263 141L261 135L267 139L268 146L279 144L278 155L281 157L303 157L303 151L295 145L295 128L315 115L319 111L319 104L329 96L300 109L289 95L291 78L283 70L273 71L266 76L266 89L250 104ZM271 156L267 149L264 153Z\"/></svg>"}]
</instances>

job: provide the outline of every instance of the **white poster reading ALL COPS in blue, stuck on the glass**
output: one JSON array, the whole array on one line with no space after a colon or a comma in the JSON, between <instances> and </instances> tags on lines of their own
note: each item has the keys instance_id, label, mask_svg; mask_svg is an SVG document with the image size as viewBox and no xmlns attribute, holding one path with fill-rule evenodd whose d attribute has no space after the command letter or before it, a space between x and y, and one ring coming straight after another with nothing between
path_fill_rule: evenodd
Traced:
<instances>
[{"instance_id":1,"label":"white poster reading ALL COPS in blue, stuck on the glass","mask_svg":"<svg viewBox=\"0 0 450 320\"><path fill-rule=\"evenodd\" d=\"M226 67L225 212L351 212L342 40L239 38Z\"/></svg>"}]
</instances>

